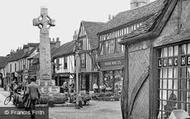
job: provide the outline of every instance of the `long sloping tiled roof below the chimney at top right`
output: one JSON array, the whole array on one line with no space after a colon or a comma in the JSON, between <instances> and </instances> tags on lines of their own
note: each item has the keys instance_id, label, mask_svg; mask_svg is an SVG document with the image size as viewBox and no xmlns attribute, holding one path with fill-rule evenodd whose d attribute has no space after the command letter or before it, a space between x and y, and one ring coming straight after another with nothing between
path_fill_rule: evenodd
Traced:
<instances>
[{"instance_id":1,"label":"long sloping tiled roof below the chimney at top right","mask_svg":"<svg viewBox=\"0 0 190 119\"><path fill-rule=\"evenodd\" d=\"M152 16L163 8L163 2L164 0L156 0L139 8L120 12L112 20L108 21L99 33L117 28L144 17Z\"/></svg>"}]
</instances>

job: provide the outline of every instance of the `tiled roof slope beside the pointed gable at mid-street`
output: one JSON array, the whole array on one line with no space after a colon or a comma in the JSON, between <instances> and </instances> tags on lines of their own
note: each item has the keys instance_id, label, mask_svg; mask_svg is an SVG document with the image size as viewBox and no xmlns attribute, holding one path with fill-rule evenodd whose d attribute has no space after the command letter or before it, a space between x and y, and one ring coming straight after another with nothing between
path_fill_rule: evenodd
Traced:
<instances>
[{"instance_id":1,"label":"tiled roof slope beside the pointed gable at mid-street","mask_svg":"<svg viewBox=\"0 0 190 119\"><path fill-rule=\"evenodd\" d=\"M103 22L91 22L82 21L81 24L84 26L86 31L91 49L96 49L98 47L98 36L97 33L103 28L105 23Z\"/></svg>"}]
</instances>

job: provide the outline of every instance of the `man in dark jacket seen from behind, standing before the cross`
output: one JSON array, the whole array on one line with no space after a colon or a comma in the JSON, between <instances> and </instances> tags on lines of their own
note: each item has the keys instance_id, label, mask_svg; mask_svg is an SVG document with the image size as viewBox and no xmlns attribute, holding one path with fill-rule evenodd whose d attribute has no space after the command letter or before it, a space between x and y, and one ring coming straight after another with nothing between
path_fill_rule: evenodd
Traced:
<instances>
[{"instance_id":1,"label":"man in dark jacket seen from behind, standing before the cross","mask_svg":"<svg viewBox=\"0 0 190 119\"><path fill-rule=\"evenodd\" d=\"M31 83L27 86L26 89L26 110L30 111L31 119L35 119L35 105L40 99L40 91L39 86L36 84L36 79L34 77L31 78Z\"/></svg>"}]
</instances>

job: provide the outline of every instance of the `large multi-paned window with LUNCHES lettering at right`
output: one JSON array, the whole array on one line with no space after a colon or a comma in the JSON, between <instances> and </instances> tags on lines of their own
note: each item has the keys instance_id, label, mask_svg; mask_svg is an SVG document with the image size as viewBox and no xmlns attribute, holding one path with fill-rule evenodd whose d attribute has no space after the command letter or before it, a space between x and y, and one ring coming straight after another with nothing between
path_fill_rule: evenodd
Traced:
<instances>
[{"instance_id":1,"label":"large multi-paned window with LUNCHES lettering at right","mask_svg":"<svg viewBox=\"0 0 190 119\"><path fill-rule=\"evenodd\" d=\"M190 44L158 50L159 117L168 118L174 109L190 113Z\"/></svg>"}]
</instances>

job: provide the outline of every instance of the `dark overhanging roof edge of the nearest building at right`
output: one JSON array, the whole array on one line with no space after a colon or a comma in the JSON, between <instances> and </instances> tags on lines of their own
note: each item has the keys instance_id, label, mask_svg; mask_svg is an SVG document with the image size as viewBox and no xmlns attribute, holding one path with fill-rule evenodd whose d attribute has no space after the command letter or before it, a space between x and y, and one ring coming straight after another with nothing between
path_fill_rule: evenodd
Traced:
<instances>
[{"instance_id":1,"label":"dark overhanging roof edge of the nearest building at right","mask_svg":"<svg viewBox=\"0 0 190 119\"><path fill-rule=\"evenodd\" d=\"M124 36L123 40L120 42L125 43L134 43L139 40L152 39L160 35L167 21L169 20L171 14L173 13L175 6L177 5L178 0L164 0L163 9L150 17L142 27L135 30L134 32Z\"/></svg>"}]
</instances>

